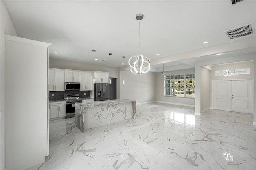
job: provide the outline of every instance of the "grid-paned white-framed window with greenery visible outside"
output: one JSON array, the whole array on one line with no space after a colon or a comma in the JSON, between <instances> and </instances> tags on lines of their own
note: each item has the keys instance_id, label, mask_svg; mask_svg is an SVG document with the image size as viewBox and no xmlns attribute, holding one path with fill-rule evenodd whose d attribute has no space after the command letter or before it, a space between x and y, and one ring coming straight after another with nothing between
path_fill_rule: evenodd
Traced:
<instances>
[{"instance_id":1,"label":"grid-paned white-framed window with greenery visible outside","mask_svg":"<svg viewBox=\"0 0 256 170\"><path fill-rule=\"evenodd\" d=\"M195 97L195 74L165 75L164 95Z\"/></svg>"}]
</instances>

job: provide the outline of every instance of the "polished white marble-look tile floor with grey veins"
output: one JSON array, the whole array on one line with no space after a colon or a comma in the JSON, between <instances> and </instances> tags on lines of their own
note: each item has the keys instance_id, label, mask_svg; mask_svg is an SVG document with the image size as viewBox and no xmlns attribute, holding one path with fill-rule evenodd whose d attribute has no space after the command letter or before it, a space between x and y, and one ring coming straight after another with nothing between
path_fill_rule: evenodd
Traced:
<instances>
[{"instance_id":1,"label":"polished white marble-look tile floor with grey veins","mask_svg":"<svg viewBox=\"0 0 256 170\"><path fill-rule=\"evenodd\" d=\"M74 118L50 121L50 155L29 170L255 170L253 115L162 103L137 119L82 133Z\"/></svg>"}]
</instances>

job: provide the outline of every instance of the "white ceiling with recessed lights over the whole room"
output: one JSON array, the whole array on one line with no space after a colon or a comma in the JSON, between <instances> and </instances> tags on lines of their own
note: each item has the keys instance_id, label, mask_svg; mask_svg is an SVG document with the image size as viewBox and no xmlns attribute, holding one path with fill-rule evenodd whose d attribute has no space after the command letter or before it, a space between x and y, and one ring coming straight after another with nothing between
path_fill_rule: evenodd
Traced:
<instances>
[{"instance_id":1,"label":"white ceiling with recessed lights over the whole room","mask_svg":"<svg viewBox=\"0 0 256 170\"><path fill-rule=\"evenodd\" d=\"M52 43L50 58L112 67L123 66L122 56L126 56L124 62L128 65L128 59L139 54L138 13L144 14L140 54L154 61L153 69L161 69L162 63L194 68L195 61L214 55L166 58L232 43L236 40L229 40L226 30L256 23L255 0L235 5L231 0L5 0L4 4L18 36ZM204 41L209 43L202 44ZM255 52L256 44L254 47ZM92 49L96 49L98 61L94 61ZM248 53L247 49L243 52Z\"/></svg>"}]
</instances>

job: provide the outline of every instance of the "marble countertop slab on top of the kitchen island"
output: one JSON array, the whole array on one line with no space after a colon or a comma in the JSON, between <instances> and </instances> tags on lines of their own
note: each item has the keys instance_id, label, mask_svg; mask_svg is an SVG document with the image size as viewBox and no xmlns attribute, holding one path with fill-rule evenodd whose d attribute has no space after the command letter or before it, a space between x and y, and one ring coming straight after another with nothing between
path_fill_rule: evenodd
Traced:
<instances>
[{"instance_id":1,"label":"marble countertop slab on top of the kitchen island","mask_svg":"<svg viewBox=\"0 0 256 170\"><path fill-rule=\"evenodd\" d=\"M112 105L118 103L128 103L128 102L136 102L135 100L128 100L128 99L116 99L116 100L104 100L104 101L91 101L91 102L84 102L84 103L76 103L78 107L94 107L100 105Z\"/></svg>"}]
</instances>

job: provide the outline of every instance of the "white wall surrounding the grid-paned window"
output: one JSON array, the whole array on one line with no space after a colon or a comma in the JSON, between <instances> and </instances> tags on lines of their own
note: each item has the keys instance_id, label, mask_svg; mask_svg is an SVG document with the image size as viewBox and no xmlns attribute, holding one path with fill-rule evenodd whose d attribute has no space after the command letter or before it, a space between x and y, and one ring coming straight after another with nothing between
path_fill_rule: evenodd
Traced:
<instances>
[{"instance_id":1,"label":"white wall surrounding the grid-paned window","mask_svg":"<svg viewBox=\"0 0 256 170\"><path fill-rule=\"evenodd\" d=\"M172 75L193 74L195 73L195 70L184 69L184 70L175 70L175 71L168 71L168 72L173 73ZM177 105L188 105L188 106L195 105L194 98L164 96L164 76L161 73L156 73L156 101L173 103Z\"/></svg>"}]
</instances>

